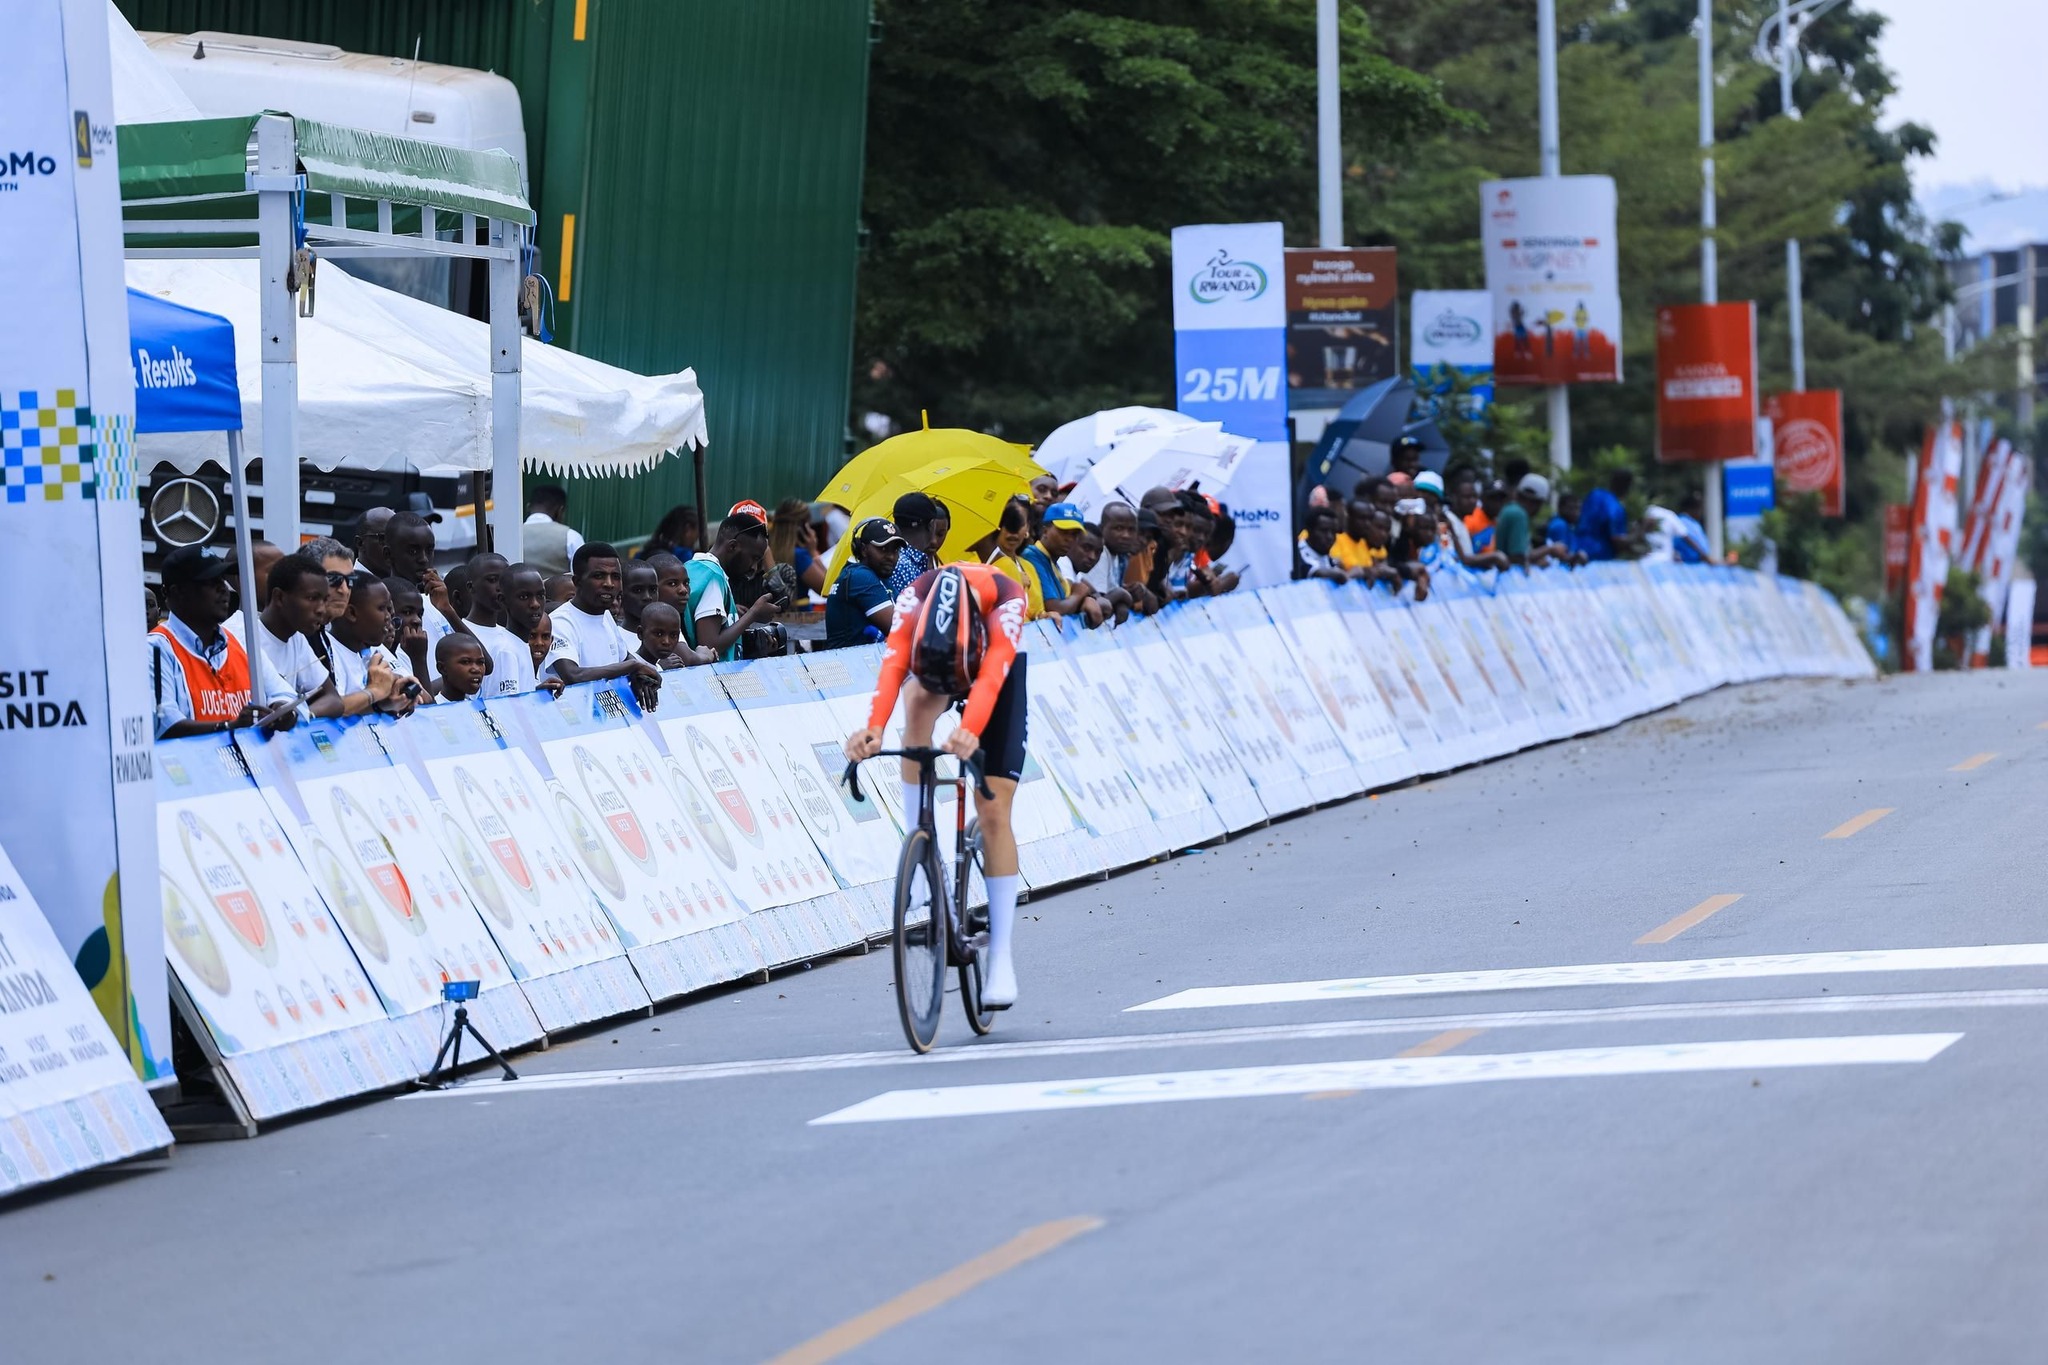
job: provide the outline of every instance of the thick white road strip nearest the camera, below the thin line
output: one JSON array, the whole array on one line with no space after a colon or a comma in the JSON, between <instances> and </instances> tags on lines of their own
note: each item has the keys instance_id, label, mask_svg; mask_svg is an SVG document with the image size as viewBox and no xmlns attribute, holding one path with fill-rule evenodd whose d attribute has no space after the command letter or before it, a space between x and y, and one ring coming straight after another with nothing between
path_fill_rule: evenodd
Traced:
<instances>
[{"instance_id":1,"label":"thick white road strip nearest the camera, below the thin line","mask_svg":"<svg viewBox=\"0 0 2048 1365\"><path fill-rule=\"evenodd\" d=\"M1651 1076L1690 1070L1767 1070L1784 1066L1862 1066L1927 1062L1962 1033L1870 1033L1862 1038L1763 1038L1718 1044L1651 1044L1634 1048L1571 1048L1565 1052L1495 1052L1477 1056L1372 1058L1300 1066L1231 1066L1223 1070L1157 1070L1141 1076L1024 1081L1018 1085L954 1085L889 1091L836 1109L819 1124L885 1124L1040 1109L1104 1109L1184 1099L1253 1099L1315 1091L1391 1091L1473 1081L1563 1081L1575 1076Z\"/></svg>"}]
</instances>

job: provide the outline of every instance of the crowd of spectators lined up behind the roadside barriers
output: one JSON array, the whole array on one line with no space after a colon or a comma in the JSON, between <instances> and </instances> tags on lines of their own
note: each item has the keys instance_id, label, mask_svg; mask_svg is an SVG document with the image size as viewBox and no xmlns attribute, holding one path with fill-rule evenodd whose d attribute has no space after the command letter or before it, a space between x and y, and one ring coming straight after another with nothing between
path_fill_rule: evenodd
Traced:
<instances>
[{"instance_id":1,"label":"crowd of spectators lined up behind the roadside barriers","mask_svg":"<svg viewBox=\"0 0 2048 1365\"><path fill-rule=\"evenodd\" d=\"M1380 583L1427 598L1444 575L1542 569L1599 559L1708 557L1698 495L1675 512L1651 508L1630 526L1630 475L1614 473L1581 499L1509 460L1499 481L1475 469L1423 469L1403 438L1391 469L1350 495L1315 489L1294 544L1292 575ZM1116 628L1188 598L1229 593L1235 542L1229 508L1198 491L1155 487L1110 501L1096 520L1040 477L1012 497L993 532L967 555L1016 579L1032 618ZM629 553L584 540L559 487L530 489L524 559L489 551L436 569L438 516L371 508L354 544L317 538L285 553L256 540L250 557L256 651L238 610L242 565L205 546L162 561L150 608L150 669L162 739L303 716L408 714L418 706L559 692L625 677L657 704L662 673L788 653L778 620L823 598L823 639L846 649L881 641L897 596L938 563L952 528L944 501L905 493L889 518L850 518L784 499L733 503L709 546L696 508L674 508ZM829 577L838 542L844 563Z\"/></svg>"}]
</instances>

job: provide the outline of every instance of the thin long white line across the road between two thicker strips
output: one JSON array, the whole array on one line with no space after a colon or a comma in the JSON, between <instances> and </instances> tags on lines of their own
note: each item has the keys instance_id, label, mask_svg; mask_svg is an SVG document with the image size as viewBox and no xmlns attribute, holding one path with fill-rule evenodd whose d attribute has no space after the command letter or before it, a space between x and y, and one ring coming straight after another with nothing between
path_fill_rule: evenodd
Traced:
<instances>
[{"instance_id":1,"label":"thin long white line across the road between two thicker strips","mask_svg":"<svg viewBox=\"0 0 2048 1365\"><path fill-rule=\"evenodd\" d=\"M1376 1038L1380 1033L1440 1033L1444 1029L1518 1029L1573 1023L1663 1023L1669 1019L1751 1019L1769 1015L1892 1013L1923 1009L2003 1009L2048 1005L2048 990L1909 990L1898 995L1796 995L1759 1001L1688 1001L1671 1005L1602 1005L1589 1009L1520 1009L1473 1015L1401 1015L1393 1019L1327 1019L1321 1023L1253 1023L1233 1029L1178 1029L1171 1033L1110 1033L1098 1038L1055 1038L1044 1042L983 1042L940 1048L918 1056L907 1048L885 1052L823 1052L817 1056L772 1056L743 1062L694 1062L688 1066L616 1066L608 1070L526 1072L518 1081L481 1074L444 1091L412 1091L399 1099L453 1099L487 1091L580 1091L608 1085L674 1085L686 1081L727 1081L739 1076L786 1076L813 1070L864 1070L870 1066L946 1066L952 1062L1001 1062L1036 1056L1087 1056L1096 1052L1155 1052L1163 1048L1214 1048L1229 1044L1315 1042L1321 1038Z\"/></svg>"}]
</instances>

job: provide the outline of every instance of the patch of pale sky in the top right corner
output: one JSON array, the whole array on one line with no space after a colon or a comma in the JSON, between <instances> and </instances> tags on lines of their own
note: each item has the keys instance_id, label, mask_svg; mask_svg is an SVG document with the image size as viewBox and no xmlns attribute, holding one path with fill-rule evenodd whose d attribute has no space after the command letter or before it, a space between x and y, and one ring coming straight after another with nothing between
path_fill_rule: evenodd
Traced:
<instances>
[{"instance_id":1,"label":"patch of pale sky in the top right corner","mask_svg":"<svg viewBox=\"0 0 2048 1365\"><path fill-rule=\"evenodd\" d=\"M1862 0L1884 14L1892 121L1935 131L1923 196L1958 184L2048 186L2048 137L2030 108L2048 63L2048 0Z\"/></svg>"}]
</instances>

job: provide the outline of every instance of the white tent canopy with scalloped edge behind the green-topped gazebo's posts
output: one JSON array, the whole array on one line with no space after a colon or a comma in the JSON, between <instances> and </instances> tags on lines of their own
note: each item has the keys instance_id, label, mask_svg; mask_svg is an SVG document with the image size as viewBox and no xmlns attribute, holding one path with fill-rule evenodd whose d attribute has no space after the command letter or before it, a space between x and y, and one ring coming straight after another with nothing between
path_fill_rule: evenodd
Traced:
<instances>
[{"instance_id":1,"label":"white tent canopy with scalloped edge behind the green-topped gazebo's posts","mask_svg":"<svg viewBox=\"0 0 2048 1365\"><path fill-rule=\"evenodd\" d=\"M262 456L260 268L254 260L129 260L133 289L236 325L248 456ZM317 469L492 467L487 323L379 289L324 262L313 317L299 319L299 458ZM526 340L520 465L551 475L645 469L705 444L696 372L643 377ZM190 473L219 440L158 434L145 460Z\"/></svg>"}]
</instances>

